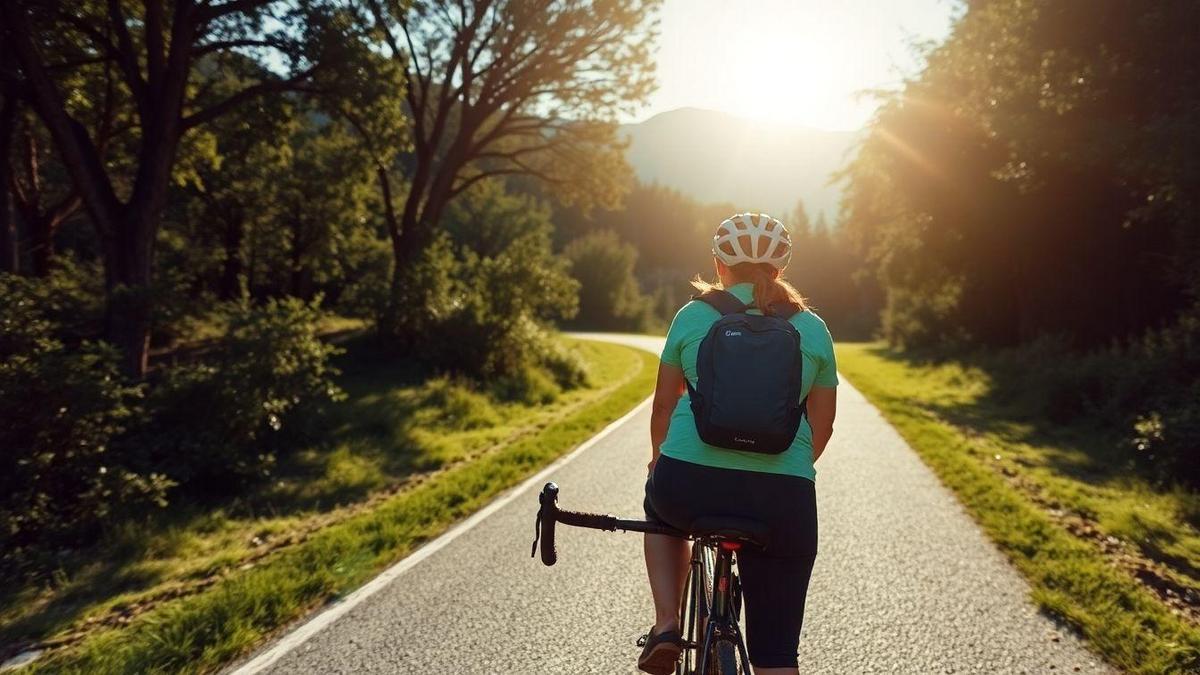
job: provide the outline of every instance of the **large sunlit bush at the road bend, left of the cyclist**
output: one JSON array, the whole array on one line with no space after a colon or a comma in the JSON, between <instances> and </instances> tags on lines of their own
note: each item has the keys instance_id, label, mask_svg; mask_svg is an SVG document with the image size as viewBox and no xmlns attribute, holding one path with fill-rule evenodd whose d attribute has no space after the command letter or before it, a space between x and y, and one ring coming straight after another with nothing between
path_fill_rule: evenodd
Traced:
<instances>
[{"instance_id":1,"label":"large sunlit bush at the road bend, left of the cyclist","mask_svg":"<svg viewBox=\"0 0 1200 675\"><path fill-rule=\"evenodd\" d=\"M415 352L505 399L547 401L581 384L581 362L546 328L575 313L578 289L551 251L546 209L481 184L445 225L409 273L419 282L402 289Z\"/></svg>"}]
</instances>

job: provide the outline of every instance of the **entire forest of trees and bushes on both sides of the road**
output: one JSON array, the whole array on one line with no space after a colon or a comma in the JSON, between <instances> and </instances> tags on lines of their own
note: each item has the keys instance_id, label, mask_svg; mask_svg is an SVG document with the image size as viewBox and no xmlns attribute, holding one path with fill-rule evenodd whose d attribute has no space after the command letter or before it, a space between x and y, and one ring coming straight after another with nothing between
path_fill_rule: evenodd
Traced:
<instances>
[{"instance_id":1,"label":"entire forest of trees and bushes on both sides of the road","mask_svg":"<svg viewBox=\"0 0 1200 675\"><path fill-rule=\"evenodd\" d=\"M664 331L755 208L624 160L656 5L4 2L0 571L270 480L347 351L538 401L586 378L559 329ZM775 214L788 277L1194 489L1198 42L1186 0L965 2L840 215Z\"/></svg>"}]
</instances>

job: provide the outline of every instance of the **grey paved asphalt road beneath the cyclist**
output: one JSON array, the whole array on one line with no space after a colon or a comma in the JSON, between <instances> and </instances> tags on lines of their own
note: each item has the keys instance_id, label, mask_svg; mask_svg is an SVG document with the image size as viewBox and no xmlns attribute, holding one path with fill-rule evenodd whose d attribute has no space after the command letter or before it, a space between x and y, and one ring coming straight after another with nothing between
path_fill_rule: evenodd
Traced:
<instances>
[{"instance_id":1,"label":"grey paved asphalt road beneath the cyclist","mask_svg":"<svg viewBox=\"0 0 1200 675\"><path fill-rule=\"evenodd\" d=\"M658 350L661 340L607 336ZM1108 673L852 387L818 465L802 673ZM641 513L649 408L553 472L562 503ZM263 671L637 673L653 613L635 534L560 527L529 557L535 490L380 585Z\"/></svg>"}]
</instances>

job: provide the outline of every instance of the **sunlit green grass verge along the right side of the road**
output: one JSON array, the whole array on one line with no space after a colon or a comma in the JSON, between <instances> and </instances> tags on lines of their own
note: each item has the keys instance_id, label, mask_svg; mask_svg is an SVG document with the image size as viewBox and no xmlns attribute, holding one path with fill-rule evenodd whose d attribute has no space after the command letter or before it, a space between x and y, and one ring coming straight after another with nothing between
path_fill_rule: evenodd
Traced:
<instances>
[{"instance_id":1,"label":"sunlit green grass verge along the right side of the road","mask_svg":"<svg viewBox=\"0 0 1200 675\"><path fill-rule=\"evenodd\" d=\"M1200 626L1135 575L1200 591L1200 496L1111 461L1102 432L1010 414L971 363L872 344L841 345L838 359L1025 574L1039 607L1124 670L1200 671Z\"/></svg>"}]
</instances>

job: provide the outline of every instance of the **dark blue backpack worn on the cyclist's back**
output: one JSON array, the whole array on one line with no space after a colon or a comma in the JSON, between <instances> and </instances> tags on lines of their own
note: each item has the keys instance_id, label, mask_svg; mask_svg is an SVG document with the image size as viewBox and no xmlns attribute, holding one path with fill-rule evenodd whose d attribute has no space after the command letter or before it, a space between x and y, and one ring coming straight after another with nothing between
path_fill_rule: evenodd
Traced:
<instances>
[{"instance_id":1,"label":"dark blue backpack worn on the cyclist's back","mask_svg":"<svg viewBox=\"0 0 1200 675\"><path fill-rule=\"evenodd\" d=\"M709 446L779 454L792 446L808 399L800 399L804 359L791 305L760 315L728 291L692 299L721 312L700 342L696 386L688 382L696 431Z\"/></svg>"}]
</instances>

